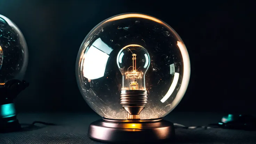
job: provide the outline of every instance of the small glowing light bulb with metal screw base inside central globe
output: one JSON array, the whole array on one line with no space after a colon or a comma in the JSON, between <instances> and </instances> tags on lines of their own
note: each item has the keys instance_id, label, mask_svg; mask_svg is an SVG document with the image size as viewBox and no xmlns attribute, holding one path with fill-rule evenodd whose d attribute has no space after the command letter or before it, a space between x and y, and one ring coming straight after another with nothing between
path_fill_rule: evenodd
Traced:
<instances>
[{"instance_id":1,"label":"small glowing light bulb with metal screw base inside central globe","mask_svg":"<svg viewBox=\"0 0 256 144\"><path fill-rule=\"evenodd\" d=\"M128 112L127 119L140 119L147 103L145 74L150 66L149 53L140 45L127 45L117 55L117 66L122 73L121 104Z\"/></svg>"}]
</instances>

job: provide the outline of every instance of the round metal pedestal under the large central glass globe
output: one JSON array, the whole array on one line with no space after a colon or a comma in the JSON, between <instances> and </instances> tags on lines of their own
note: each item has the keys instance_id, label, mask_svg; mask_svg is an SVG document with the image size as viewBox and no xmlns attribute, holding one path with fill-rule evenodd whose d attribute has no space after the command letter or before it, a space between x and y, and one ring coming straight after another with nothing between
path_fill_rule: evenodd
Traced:
<instances>
[{"instance_id":1,"label":"round metal pedestal under the large central glass globe","mask_svg":"<svg viewBox=\"0 0 256 144\"><path fill-rule=\"evenodd\" d=\"M175 137L173 123L162 120L103 119L90 124L88 136L114 143L148 143L171 141Z\"/></svg>"}]
</instances>

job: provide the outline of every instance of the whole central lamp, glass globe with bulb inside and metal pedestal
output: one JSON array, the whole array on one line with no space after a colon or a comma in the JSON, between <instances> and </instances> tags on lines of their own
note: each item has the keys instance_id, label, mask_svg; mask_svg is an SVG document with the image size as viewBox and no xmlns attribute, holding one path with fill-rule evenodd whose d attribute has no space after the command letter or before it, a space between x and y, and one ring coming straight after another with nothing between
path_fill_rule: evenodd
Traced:
<instances>
[{"instance_id":1,"label":"whole central lamp, glass globe with bulb inside and metal pedestal","mask_svg":"<svg viewBox=\"0 0 256 144\"><path fill-rule=\"evenodd\" d=\"M133 142L146 135L143 142L150 142L173 136L173 124L162 118L185 94L190 60L182 39L165 22L120 14L88 33L76 76L83 98L103 117L91 123L89 137L107 142L133 137Z\"/></svg>"}]
</instances>

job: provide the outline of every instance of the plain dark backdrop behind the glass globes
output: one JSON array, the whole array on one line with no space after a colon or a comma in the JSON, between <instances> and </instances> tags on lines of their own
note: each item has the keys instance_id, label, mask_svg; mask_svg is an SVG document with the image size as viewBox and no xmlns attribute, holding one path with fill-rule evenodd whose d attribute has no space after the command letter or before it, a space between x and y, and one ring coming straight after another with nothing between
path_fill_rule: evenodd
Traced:
<instances>
[{"instance_id":1,"label":"plain dark backdrop behind the glass globes","mask_svg":"<svg viewBox=\"0 0 256 144\"><path fill-rule=\"evenodd\" d=\"M168 23L190 55L187 92L174 111L255 112L253 1L1 0L29 47L19 112L92 112L75 79L83 39L113 15L137 12Z\"/></svg>"}]
</instances>

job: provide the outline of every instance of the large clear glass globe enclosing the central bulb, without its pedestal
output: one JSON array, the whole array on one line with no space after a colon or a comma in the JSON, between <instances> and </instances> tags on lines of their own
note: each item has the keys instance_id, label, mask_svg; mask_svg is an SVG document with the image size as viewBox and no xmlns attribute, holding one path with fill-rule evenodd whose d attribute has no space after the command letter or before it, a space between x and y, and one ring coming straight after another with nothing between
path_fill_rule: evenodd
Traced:
<instances>
[{"instance_id":1,"label":"large clear glass globe enclosing the central bulb, without its pedestal","mask_svg":"<svg viewBox=\"0 0 256 144\"><path fill-rule=\"evenodd\" d=\"M181 101L190 60L179 35L145 14L121 14L99 23L80 47L77 82L87 104L110 119L127 119L121 90L147 91L141 119L161 118ZM127 80L128 79L128 80Z\"/></svg>"}]
</instances>

